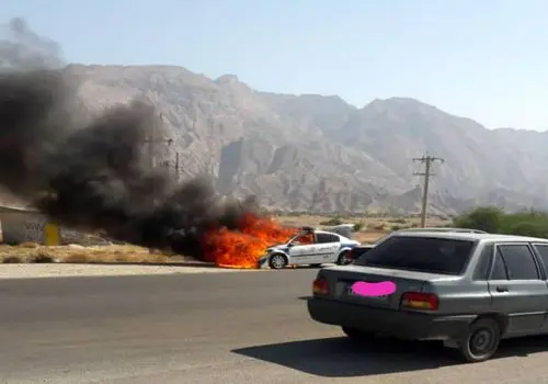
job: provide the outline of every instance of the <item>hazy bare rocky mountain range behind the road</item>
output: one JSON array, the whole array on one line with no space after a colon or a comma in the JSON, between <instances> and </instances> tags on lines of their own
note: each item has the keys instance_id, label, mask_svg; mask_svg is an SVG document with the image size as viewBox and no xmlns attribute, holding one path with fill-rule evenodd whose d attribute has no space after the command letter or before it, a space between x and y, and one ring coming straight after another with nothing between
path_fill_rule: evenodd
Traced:
<instances>
[{"instance_id":1,"label":"hazy bare rocky mountain range behind the road","mask_svg":"<svg viewBox=\"0 0 548 384\"><path fill-rule=\"evenodd\" d=\"M548 207L548 133L490 131L413 99L357 109L338 97L260 92L226 75L181 67L82 66L80 101L91 112L148 98L174 139L181 178L209 174L219 193L255 194L273 208L313 212L420 210L420 165L435 167L431 211L475 204Z\"/></svg>"}]
</instances>

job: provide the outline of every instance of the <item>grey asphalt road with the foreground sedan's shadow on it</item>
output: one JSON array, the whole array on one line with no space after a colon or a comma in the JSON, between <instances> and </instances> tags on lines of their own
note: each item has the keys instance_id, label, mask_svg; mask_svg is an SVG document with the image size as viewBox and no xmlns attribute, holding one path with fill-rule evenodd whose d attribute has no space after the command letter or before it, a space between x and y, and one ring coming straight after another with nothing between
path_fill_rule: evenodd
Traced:
<instances>
[{"instance_id":1,"label":"grey asphalt road with the foreground sedan's shadow on it","mask_svg":"<svg viewBox=\"0 0 548 384\"><path fill-rule=\"evenodd\" d=\"M0 280L1 383L544 383L548 339L458 364L312 323L316 270Z\"/></svg>"}]
</instances>

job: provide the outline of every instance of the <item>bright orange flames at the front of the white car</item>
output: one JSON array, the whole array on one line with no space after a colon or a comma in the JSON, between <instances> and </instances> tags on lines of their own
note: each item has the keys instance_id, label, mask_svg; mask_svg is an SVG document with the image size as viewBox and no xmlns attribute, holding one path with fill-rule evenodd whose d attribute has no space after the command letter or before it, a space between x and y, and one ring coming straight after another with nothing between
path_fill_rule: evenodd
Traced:
<instances>
[{"instance_id":1,"label":"bright orange flames at the front of the white car","mask_svg":"<svg viewBox=\"0 0 548 384\"><path fill-rule=\"evenodd\" d=\"M204 236L204 259L222 268L258 268L267 247L287 241L297 231L272 218L248 214L238 230L216 228Z\"/></svg>"}]
</instances>

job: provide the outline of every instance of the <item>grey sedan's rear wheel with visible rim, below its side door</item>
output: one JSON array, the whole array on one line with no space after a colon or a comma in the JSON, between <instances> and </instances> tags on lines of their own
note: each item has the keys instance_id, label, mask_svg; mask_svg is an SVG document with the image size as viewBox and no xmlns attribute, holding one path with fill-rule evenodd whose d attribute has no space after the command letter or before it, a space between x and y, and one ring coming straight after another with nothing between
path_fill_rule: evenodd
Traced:
<instances>
[{"instance_id":1,"label":"grey sedan's rear wheel with visible rim, below its side door","mask_svg":"<svg viewBox=\"0 0 548 384\"><path fill-rule=\"evenodd\" d=\"M459 343L460 358L468 363L491 359L499 349L501 327L493 318L480 318L472 323L465 338Z\"/></svg>"}]
</instances>

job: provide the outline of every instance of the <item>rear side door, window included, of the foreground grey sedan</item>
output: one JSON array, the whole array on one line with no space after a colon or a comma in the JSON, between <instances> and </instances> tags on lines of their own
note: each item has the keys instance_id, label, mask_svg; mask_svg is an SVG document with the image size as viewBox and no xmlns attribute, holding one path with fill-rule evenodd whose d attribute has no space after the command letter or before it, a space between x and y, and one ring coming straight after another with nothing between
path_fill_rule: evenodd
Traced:
<instances>
[{"instance_id":1,"label":"rear side door, window included, of the foreground grey sedan","mask_svg":"<svg viewBox=\"0 0 548 384\"><path fill-rule=\"evenodd\" d=\"M509 316L509 336L540 331L548 287L528 244L495 245L489 293L493 310Z\"/></svg>"}]
</instances>

